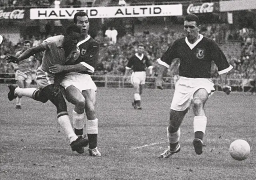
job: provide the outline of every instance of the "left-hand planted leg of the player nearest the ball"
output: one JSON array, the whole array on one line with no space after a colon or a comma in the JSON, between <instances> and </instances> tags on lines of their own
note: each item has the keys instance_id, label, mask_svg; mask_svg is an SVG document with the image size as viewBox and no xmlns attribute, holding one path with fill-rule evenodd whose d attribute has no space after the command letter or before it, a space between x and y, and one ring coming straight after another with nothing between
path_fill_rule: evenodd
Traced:
<instances>
[{"instance_id":1,"label":"left-hand planted leg of the player nearest the ball","mask_svg":"<svg viewBox=\"0 0 256 180\"><path fill-rule=\"evenodd\" d=\"M159 158L168 158L180 151L180 124L187 112L187 109L183 111L170 110L170 120L167 127L167 138L170 146L168 150L160 154Z\"/></svg>"}]
</instances>

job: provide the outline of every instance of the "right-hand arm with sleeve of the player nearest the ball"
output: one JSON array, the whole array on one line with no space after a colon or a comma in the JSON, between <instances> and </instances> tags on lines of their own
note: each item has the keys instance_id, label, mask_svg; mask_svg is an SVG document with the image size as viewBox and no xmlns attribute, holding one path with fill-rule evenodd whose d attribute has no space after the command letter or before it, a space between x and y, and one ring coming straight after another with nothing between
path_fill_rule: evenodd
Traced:
<instances>
[{"instance_id":1,"label":"right-hand arm with sleeve of the player nearest the ball","mask_svg":"<svg viewBox=\"0 0 256 180\"><path fill-rule=\"evenodd\" d=\"M216 66L218 67L218 74L220 76L220 87L226 94L230 94L231 87L227 84L227 75L230 70L232 70L233 66L228 63L225 54L218 47L218 45L213 42L213 60Z\"/></svg>"}]
</instances>

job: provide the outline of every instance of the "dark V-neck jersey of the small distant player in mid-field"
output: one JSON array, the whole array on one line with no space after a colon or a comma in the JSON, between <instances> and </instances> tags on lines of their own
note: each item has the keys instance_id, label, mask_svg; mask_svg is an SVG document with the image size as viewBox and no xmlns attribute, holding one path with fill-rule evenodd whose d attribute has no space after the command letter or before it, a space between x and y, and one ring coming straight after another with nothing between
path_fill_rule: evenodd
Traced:
<instances>
[{"instance_id":1,"label":"dark V-neck jersey of the small distant player in mid-field","mask_svg":"<svg viewBox=\"0 0 256 180\"><path fill-rule=\"evenodd\" d=\"M148 60L148 57L142 54L142 56L138 56L136 53L128 60L128 64L126 67L132 68L134 72L137 71L146 71L146 68L152 66L151 62Z\"/></svg>"}]
</instances>

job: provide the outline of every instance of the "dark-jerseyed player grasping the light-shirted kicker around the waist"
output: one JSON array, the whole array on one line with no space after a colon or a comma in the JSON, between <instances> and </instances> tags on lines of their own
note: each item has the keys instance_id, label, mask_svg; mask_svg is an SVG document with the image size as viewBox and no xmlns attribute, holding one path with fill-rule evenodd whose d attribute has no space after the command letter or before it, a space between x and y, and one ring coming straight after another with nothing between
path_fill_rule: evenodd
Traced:
<instances>
[{"instance_id":1,"label":"dark-jerseyed player grasping the light-shirted kicker around the waist","mask_svg":"<svg viewBox=\"0 0 256 180\"><path fill-rule=\"evenodd\" d=\"M78 42L80 57L75 65L55 65L50 67L50 72L65 72L61 83L65 88L66 99L75 105L73 111L73 126L77 136L82 138L85 114L86 132L89 139L90 156L101 156L97 148L98 119L95 115L96 85L91 74L98 65L99 44L88 35L90 27L86 12L77 12L74 15L74 24L81 28L81 38ZM84 152L84 148L80 149Z\"/></svg>"}]
</instances>

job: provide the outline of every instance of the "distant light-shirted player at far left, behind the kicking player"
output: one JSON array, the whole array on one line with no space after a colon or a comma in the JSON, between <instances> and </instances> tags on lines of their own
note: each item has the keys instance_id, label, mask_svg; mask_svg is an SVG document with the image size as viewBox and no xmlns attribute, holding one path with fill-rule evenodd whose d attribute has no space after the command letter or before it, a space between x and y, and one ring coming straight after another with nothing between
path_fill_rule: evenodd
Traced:
<instances>
[{"instance_id":1,"label":"distant light-shirted player at far left, behind the kicking player","mask_svg":"<svg viewBox=\"0 0 256 180\"><path fill-rule=\"evenodd\" d=\"M28 48L32 47L32 42L29 40L25 40L23 42L23 49L16 52L16 57L20 56L24 51ZM20 62L18 64L11 63L11 66L14 67L15 70L15 80L20 88L28 88L32 82L32 73L34 70L40 66L40 63L36 60L34 56L30 56ZM21 98L16 98L16 109L21 109Z\"/></svg>"}]
</instances>

